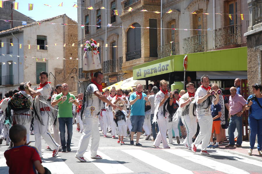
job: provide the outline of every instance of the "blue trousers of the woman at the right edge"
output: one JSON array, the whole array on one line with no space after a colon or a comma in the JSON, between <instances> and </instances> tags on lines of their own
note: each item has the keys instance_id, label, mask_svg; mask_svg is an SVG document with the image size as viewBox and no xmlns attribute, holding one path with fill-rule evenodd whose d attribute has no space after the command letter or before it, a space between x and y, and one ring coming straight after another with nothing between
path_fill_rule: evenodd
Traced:
<instances>
[{"instance_id":1,"label":"blue trousers of the woman at the right edge","mask_svg":"<svg viewBox=\"0 0 262 174\"><path fill-rule=\"evenodd\" d=\"M262 149L262 119L255 119L248 117L248 124L250 128L250 149L254 149L256 134L257 134L257 150Z\"/></svg>"}]
</instances>

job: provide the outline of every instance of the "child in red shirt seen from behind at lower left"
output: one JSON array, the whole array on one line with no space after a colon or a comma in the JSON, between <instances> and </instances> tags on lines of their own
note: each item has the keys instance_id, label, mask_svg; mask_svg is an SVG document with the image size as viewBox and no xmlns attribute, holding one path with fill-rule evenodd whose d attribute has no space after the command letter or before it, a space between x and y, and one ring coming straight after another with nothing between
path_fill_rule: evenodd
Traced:
<instances>
[{"instance_id":1,"label":"child in red shirt seen from behind at lower left","mask_svg":"<svg viewBox=\"0 0 262 174\"><path fill-rule=\"evenodd\" d=\"M6 150L4 156L12 174L44 174L48 169L42 166L42 161L35 147L26 143L26 128L23 125L13 125L9 130L9 137L14 143L12 149ZM50 171L49 171L50 172Z\"/></svg>"}]
</instances>

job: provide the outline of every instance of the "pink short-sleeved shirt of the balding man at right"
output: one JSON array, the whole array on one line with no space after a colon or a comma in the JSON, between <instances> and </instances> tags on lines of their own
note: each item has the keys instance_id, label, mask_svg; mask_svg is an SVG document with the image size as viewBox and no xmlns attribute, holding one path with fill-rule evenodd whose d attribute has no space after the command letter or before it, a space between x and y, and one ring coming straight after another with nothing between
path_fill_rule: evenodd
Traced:
<instances>
[{"instance_id":1,"label":"pink short-sleeved shirt of the balding man at right","mask_svg":"<svg viewBox=\"0 0 262 174\"><path fill-rule=\"evenodd\" d=\"M229 96L229 114L235 115L236 113L242 111L243 106L246 105L246 100L242 95L236 94L234 97Z\"/></svg>"}]
</instances>

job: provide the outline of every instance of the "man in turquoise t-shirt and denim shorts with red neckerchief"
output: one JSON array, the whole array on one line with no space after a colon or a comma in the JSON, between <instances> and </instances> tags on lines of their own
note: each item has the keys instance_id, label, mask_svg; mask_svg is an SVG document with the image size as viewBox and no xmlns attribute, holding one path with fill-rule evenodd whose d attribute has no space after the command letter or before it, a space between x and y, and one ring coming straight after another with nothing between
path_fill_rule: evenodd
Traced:
<instances>
[{"instance_id":1,"label":"man in turquoise t-shirt and denim shorts with red neckerchief","mask_svg":"<svg viewBox=\"0 0 262 174\"><path fill-rule=\"evenodd\" d=\"M145 119L145 103L148 105L148 97L145 93L142 93L142 85L137 85L137 91L132 93L129 97L129 103L131 105L131 137L130 144L134 144L134 134L137 132L136 146L142 146L138 141L142 132L142 126Z\"/></svg>"}]
</instances>

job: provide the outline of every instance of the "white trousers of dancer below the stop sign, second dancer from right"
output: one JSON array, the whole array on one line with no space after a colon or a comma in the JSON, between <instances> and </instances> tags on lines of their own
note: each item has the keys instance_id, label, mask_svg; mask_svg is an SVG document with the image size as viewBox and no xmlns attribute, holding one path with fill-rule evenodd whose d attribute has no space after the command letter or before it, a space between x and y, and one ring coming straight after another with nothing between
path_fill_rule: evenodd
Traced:
<instances>
[{"instance_id":1,"label":"white trousers of dancer below the stop sign, second dancer from right","mask_svg":"<svg viewBox=\"0 0 262 174\"><path fill-rule=\"evenodd\" d=\"M189 115L182 117L183 124L185 125L187 137L183 141L183 145L187 145L191 149L191 144L193 143L192 138L197 133L197 122L196 120L191 120Z\"/></svg>"}]
</instances>

